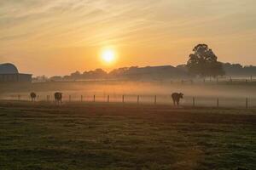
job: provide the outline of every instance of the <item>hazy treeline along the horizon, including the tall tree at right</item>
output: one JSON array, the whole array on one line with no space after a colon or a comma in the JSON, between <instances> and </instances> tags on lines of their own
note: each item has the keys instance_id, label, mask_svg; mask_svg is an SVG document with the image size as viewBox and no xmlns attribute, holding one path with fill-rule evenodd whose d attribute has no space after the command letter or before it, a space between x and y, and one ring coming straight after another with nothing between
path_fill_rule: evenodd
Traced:
<instances>
[{"instance_id":1,"label":"hazy treeline along the horizon, including the tall tree at right","mask_svg":"<svg viewBox=\"0 0 256 170\"><path fill-rule=\"evenodd\" d=\"M250 77L256 76L256 66L242 66L240 64L222 63L207 44L198 44L189 55L186 65L123 67L107 72L102 69L95 71L75 71L64 77L35 77L36 81L74 81L74 80L104 80L104 79L129 79L129 80L166 80L185 79L195 77L218 76Z\"/></svg>"}]
</instances>

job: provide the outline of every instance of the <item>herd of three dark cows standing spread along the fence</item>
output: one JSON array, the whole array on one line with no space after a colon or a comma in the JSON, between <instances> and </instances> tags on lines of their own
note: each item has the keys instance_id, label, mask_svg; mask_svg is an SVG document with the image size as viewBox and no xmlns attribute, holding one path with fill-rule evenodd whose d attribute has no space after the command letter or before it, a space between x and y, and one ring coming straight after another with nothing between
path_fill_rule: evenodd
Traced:
<instances>
[{"instance_id":1,"label":"herd of three dark cows standing spread along the fence","mask_svg":"<svg viewBox=\"0 0 256 170\"><path fill-rule=\"evenodd\" d=\"M37 94L32 92L30 94L30 97L31 97L32 101L36 101ZM179 100L180 99L183 99L183 94L182 93L173 93L172 94L173 105L179 105ZM62 101L62 93L56 92L55 93L55 102L57 104L61 104L61 101Z\"/></svg>"}]
</instances>

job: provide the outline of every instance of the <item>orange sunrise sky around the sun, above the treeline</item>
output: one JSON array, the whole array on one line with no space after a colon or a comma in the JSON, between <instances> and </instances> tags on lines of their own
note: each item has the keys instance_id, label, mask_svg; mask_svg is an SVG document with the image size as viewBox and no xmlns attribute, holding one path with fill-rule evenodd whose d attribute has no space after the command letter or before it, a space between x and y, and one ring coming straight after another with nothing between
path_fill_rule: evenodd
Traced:
<instances>
[{"instance_id":1,"label":"orange sunrise sky around the sun, above the treeline","mask_svg":"<svg viewBox=\"0 0 256 170\"><path fill-rule=\"evenodd\" d=\"M223 62L256 65L255 0L0 0L0 63L67 75L184 64L198 43ZM104 48L114 51L102 63Z\"/></svg>"}]
</instances>

